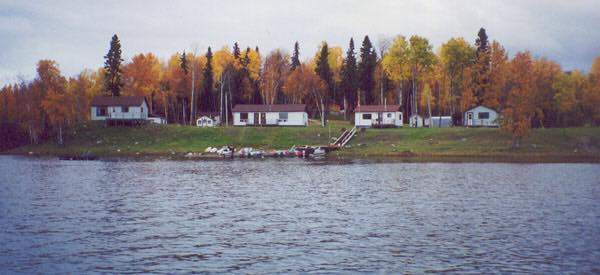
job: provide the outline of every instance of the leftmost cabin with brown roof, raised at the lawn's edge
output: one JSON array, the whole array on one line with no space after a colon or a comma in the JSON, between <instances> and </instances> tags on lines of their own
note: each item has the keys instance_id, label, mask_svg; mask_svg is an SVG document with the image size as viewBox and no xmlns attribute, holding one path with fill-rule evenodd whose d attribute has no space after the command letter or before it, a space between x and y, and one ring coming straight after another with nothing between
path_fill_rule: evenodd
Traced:
<instances>
[{"instance_id":1,"label":"leftmost cabin with brown roof, raised at the lawn's edge","mask_svg":"<svg viewBox=\"0 0 600 275\"><path fill-rule=\"evenodd\" d=\"M97 96L91 112L92 120L147 120L148 102L143 96Z\"/></svg>"}]
</instances>

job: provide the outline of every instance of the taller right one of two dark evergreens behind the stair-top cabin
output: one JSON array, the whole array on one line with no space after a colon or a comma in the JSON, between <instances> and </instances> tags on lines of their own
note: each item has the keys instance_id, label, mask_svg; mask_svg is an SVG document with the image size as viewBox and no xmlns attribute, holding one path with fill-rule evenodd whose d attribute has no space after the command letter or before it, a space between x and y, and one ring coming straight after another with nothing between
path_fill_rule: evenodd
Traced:
<instances>
[{"instance_id":1,"label":"taller right one of two dark evergreens behind the stair-top cabin","mask_svg":"<svg viewBox=\"0 0 600 275\"><path fill-rule=\"evenodd\" d=\"M364 96L365 104L373 104L373 89L375 88L375 67L377 66L377 53L373 48L369 36L366 35L360 48L360 63L358 64L358 87L361 97ZM360 100L360 98L357 98Z\"/></svg>"}]
</instances>

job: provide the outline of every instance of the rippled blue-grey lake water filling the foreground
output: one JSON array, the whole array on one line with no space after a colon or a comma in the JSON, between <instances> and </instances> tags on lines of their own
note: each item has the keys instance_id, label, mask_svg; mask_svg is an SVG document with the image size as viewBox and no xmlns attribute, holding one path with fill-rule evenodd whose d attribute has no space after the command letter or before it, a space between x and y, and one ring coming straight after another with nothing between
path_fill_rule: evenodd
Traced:
<instances>
[{"instance_id":1,"label":"rippled blue-grey lake water filling the foreground","mask_svg":"<svg viewBox=\"0 0 600 275\"><path fill-rule=\"evenodd\" d=\"M600 165L0 156L0 273L598 273Z\"/></svg>"}]
</instances>

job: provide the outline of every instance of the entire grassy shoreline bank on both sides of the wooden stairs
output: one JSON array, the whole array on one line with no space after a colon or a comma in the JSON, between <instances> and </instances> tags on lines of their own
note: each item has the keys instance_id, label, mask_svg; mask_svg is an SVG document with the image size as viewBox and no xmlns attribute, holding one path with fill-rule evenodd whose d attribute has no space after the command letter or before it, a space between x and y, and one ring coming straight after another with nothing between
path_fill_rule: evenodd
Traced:
<instances>
[{"instance_id":1,"label":"entire grassy shoreline bank on both sides of the wooden stairs","mask_svg":"<svg viewBox=\"0 0 600 275\"><path fill-rule=\"evenodd\" d=\"M313 121L311 121L313 122ZM86 123L71 129L66 145L52 142L25 146L9 153L81 154L100 156L166 155L203 152L207 147L234 145L261 149L287 149L293 145L324 145L337 137L346 121L331 121L322 128L317 121L308 127L217 127L179 125L104 127ZM359 131L349 148L337 156L573 156L600 159L600 128L535 129L520 149L510 149L510 135L495 128L397 128Z\"/></svg>"}]
</instances>

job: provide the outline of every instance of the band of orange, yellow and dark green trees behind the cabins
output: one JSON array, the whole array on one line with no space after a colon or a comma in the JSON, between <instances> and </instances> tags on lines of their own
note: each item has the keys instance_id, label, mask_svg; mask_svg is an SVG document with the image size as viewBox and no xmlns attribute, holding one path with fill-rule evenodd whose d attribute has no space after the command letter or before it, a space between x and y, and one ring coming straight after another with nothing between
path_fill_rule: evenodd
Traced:
<instances>
[{"instance_id":1,"label":"band of orange, yellow and dark green trees behind the cabins","mask_svg":"<svg viewBox=\"0 0 600 275\"><path fill-rule=\"evenodd\" d=\"M0 90L2 147L57 137L88 120L94 96L145 96L151 114L169 123L193 124L202 114L231 117L236 104L305 103L323 125L327 116L352 118L367 104L399 104L408 118L450 115L455 124L476 105L502 112L503 127L520 137L531 127L600 124L600 57L588 73L565 71L557 62L518 52L509 58L485 29L474 43L451 38L437 51L428 39L398 35L377 46L365 36L346 51L322 42L303 58L298 42L292 54L258 47L222 47L205 53L181 52L161 61L153 53L125 62L114 35L105 66L73 77L52 60L40 60L33 81Z\"/></svg>"}]
</instances>

